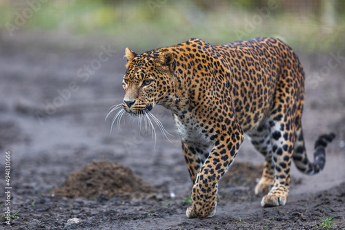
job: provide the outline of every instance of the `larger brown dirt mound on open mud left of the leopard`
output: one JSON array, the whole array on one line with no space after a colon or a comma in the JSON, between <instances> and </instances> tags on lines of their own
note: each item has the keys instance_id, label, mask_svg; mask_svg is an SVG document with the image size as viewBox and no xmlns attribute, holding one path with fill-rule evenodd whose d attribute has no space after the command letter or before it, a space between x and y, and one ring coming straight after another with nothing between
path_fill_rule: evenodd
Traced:
<instances>
[{"instance_id":1,"label":"larger brown dirt mound on open mud left of the leopard","mask_svg":"<svg viewBox=\"0 0 345 230\"><path fill-rule=\"evenodd\" d=\"M54 190L58 196L69 198L144 198L156 189L135 174L130 168L110 162L92 162L71 174L61 187Z\"/></svg>"}]
</instances>

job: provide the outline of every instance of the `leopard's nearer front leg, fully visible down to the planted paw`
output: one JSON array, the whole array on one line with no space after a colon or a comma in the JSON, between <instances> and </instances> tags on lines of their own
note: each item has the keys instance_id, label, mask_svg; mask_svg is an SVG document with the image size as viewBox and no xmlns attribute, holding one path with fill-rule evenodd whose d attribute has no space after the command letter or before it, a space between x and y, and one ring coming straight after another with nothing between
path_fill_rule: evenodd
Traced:
<instances>
[{"instance_id":1,"label":"leopard's nearer front leg, fully visible down to the planted paw","mask_svg":"<svg viewBox=\"0 0 345 230\"><path fill-rule=\"evenodd\" d=\"M213 150L201 167L193 186L191 198L193 205L188 207L188 218L204 219L215 215L217 206L218 180L223 176L237 154L244 135L237 126L226 134L215 134Z\"/></svg>"}]
</instances>

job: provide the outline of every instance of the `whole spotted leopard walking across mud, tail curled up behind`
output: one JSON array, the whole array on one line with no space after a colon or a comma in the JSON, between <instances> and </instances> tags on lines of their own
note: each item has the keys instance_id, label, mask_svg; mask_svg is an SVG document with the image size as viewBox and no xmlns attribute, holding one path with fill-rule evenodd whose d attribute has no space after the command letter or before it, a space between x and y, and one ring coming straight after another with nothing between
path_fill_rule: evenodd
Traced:
<instances>
[{"instance_id":1,"label":"whole spotted leopard walking across mud, tail curled up behind","mask_svg":"<svg viewBox=\"0 0 345 230\"><path fill-rule=\"evenodd\" d=\"M293 161L317 174L335 134L320 135L308 159L302 132L305 73L297 54L280 39L257 37L223 45L189 39L142 54L126 48L121 112L136 117L155 105L172 112L192 180L187 218L210 218L218 182L244 138L265 158L255 194L262 207L286 205Z\"/></svg>"}]
</instances>

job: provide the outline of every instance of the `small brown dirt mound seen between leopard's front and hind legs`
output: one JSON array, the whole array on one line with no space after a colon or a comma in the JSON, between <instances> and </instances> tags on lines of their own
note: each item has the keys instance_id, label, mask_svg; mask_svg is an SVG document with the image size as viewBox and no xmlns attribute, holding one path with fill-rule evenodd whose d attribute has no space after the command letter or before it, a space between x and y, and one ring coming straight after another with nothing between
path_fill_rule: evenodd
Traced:
<instances>
[{"instance_id":1,"label":"small brown dirt mound seen between leopard's front and hind legs","mask_svg":"<svg viewBox=\"0 0 345 230\"><path fill-rule=\"evenodd\" d=\"M256 180L261 178L263 169L264 165L235 161L220 181L242 186L255 185Z\"/></svg>"}]
</instances>

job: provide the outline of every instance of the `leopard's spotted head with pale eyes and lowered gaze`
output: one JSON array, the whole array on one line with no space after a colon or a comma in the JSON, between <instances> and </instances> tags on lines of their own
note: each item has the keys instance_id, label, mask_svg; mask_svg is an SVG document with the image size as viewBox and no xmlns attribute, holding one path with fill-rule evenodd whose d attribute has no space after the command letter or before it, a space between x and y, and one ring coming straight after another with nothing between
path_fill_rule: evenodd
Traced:
<instances>
[{"instance_id":1,"label":"leopard's spotted head with pale eyes and lowered gaze","mask_svg":"<svg viewBox=\"0 0 345 230\"><path fill-rule=\"evenodd\" d=\"M174 93L174 54L166 49L136 54L129 48L126 54L126 74L122 81L122 106L131 115L149 112L155 105L164 105Z\"/></svg>"}]
</instances>

